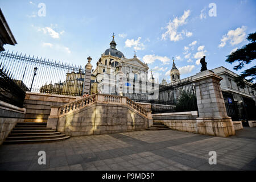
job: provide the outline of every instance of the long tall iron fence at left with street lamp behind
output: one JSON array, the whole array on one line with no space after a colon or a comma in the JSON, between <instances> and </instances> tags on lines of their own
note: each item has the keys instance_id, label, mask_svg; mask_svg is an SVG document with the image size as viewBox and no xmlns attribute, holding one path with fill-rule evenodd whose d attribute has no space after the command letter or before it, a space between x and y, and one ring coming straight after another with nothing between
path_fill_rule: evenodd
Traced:
<instances>
[{"instance_id":1,"label":"long tall iron fence at left with street lamp behind","mask_svg":"<svg viewBox=\"0 0 256 182\"><path fill-rule=\"evenodd\" d=\"M82 95L84 67L9 51L0 52L0 62L31 92Z\"/></svg>"}]
</instances>

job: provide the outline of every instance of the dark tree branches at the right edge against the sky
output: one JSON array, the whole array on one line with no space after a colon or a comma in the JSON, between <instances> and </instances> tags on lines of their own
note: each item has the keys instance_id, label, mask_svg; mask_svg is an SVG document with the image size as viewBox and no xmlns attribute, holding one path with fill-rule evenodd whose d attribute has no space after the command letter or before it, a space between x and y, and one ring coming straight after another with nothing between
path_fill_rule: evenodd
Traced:
<instances>
[{"instance_id":1,"label":"dark tree branches at the right edge against the sky","mask_svg":"<svg viewBox=\"0 0 256 182\"><path fill-rule=\"evenodd\" d=\"M233 68L236 71L238 69L242 69L243 67L245 67L245 64L249 64L251 63L251 61L256 59L256 32L249 34L249 36L247 36L247 40L251 43L243 46L241 49L237 49L237 51L232 52L230 55L226 56L228 57L225 60L226 62L230 64L234 62L239 63ZM249 79L246 79L247 77L249 77ZM249 82L253 82L256 80L256 65L249 69L246 69L235 78L235 82L241 88L245 88L245 80ZM255 88L256 83L254 83L252 87Z\"/></svg>"}]
</instances>

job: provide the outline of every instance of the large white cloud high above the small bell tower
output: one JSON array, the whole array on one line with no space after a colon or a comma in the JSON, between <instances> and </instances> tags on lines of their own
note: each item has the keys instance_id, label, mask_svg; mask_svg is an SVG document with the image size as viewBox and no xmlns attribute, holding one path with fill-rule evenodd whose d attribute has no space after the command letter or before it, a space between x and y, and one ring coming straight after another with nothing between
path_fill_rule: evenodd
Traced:
<instances>
[{"instance_id":1,"label":"large white cloud high above the small bell tower","mask_svg":"<svg viewBox=\"0 0 256 182\"><path fill-rule=\"evenodd\" d=\"M183 24L186 24L186 19L190 15L190 10L184 11L184 14L180 16L179 18L176 17L174 20L170 20L170 22L167 24L165 29L167 29L164 34L162 34L162 40L166 40L167 38L170 38L171 41L178 41L183 39L183 35L185 34L186 36L192 36L192 32L187 32L187 31L181 31L178 32L178 28L182 26Z\"/></svg>"}]
</instances>

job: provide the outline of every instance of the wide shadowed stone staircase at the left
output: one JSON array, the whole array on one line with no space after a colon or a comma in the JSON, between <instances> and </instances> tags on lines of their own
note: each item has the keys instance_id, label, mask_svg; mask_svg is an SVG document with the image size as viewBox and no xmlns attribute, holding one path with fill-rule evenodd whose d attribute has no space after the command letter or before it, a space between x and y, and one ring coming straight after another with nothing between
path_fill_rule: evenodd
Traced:
<instances>
[{"instance_id":1,"label":"wide shadowed stone staircase at the left","mask_svg":"<svg viewBox=\"0 0 256 182\"><path fill-rule=\"evenodd\" d=\"M5 139L4 144L18 143L42 143L57 142L59 140L68 139L69 136L61 134L51 127L46 127L46 122L19 122L16 123L9 136Z\"/></svg>"}]
</instances>

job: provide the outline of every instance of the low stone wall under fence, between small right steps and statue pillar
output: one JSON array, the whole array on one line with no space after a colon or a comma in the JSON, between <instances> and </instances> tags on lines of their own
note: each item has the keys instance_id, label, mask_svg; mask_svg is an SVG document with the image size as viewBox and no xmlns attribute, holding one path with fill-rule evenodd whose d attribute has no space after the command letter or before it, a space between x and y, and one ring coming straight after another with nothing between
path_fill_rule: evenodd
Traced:
<instances>
[{"instance_id":1,"label":"low stone wall under fence, between small right steps and statue pillar","mask_svg":"<svg viewBox=\"0 0 256 182\"><path fill-rule=\"evenodd\" d=\"M172 130L197 133L197 111L152 114L154 122L162 122Z\"/></svg>"}]
</instances>

